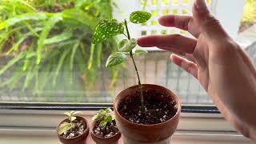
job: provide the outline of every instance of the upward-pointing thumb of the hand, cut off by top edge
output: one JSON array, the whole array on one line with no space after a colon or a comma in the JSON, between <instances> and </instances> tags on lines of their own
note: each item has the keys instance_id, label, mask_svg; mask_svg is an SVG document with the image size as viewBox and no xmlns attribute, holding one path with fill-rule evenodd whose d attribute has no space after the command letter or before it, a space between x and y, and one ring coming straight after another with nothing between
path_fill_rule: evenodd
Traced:
<instances>
[{"instance_id":1,"label":"upward-pointing thumb of the hand, cut off by top edge","mask_svg":"<svg viewBox=\"0 0 256 144\"><path fill-rule=\"evenodd\" d=\"M193 16L206 40L219 40L220 38L229 37L218 19L210 13L205 0L194 1Z\"/></svg>"}]
</instances>

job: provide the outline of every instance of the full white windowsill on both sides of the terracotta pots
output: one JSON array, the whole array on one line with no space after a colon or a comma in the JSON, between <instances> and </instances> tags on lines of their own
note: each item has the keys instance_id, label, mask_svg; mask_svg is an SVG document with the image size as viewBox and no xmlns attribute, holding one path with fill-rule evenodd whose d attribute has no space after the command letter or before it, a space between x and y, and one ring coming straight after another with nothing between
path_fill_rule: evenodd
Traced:
<instances>
[{"instance_id":1,"label":"full white windowsill on both sides of the terracotta pots","mask_svg":"<svg viewBox=\"0 0 256 144\"><path fill-rule=\"evenodd\" d=\"M0 110L0 143L60 144L55 134L62 110ZM96 111L83 111L90 121ZM221 114L182 114L174 144L252 143L235 132Z\"/></svg>"}]
</instances>

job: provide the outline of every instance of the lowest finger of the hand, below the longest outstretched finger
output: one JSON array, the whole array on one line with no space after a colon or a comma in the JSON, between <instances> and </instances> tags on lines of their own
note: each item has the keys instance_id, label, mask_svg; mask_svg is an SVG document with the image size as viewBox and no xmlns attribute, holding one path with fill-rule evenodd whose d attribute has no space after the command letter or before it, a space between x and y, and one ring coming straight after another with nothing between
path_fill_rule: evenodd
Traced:
<instances>
[{"instance_id":1,"label":"lowest finger of the hand, below the longest outstretched finger","mask_svg":"<svg viewBox=\"0 0 256 144\"><path fill-rule=\"evenodd\" d=\"M198 78L198 66L194 62L190 62L186 60L186 58L182 58L176 54L171 54L170 60L180 66L183 70L186 70L186 72L193 75L194 78Z\"/></svg>"}]
</instances>

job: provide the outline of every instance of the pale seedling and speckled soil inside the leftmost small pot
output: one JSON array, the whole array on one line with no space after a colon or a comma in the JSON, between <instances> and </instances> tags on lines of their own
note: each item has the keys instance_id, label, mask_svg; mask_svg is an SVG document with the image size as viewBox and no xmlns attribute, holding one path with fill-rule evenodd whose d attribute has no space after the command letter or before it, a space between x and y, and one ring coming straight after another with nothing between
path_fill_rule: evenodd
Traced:
<instances>
[{"instance_id":1,"label":"pale seedling and speckled soil inside the leftmost small pot","mask_svg":"<svg viewBox=\"0 0 256 144\"><path fill-rule=\"evenodd\" d=\"M64 113L68 116L68 121L62 122L58 126L58 134L63 138L74 138L82 135L86 130L86 122L78 120L77 114L81 114L80 111L70 111Z\"/></svg>"}]
</instances>

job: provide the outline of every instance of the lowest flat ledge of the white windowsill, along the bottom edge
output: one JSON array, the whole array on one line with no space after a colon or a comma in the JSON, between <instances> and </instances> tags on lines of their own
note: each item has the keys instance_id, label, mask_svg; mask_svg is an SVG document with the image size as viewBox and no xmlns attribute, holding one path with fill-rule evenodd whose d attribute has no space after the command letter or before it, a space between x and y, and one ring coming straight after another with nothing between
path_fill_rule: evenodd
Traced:
<instances>
[{"instance_id":1,"label":"lowest flat ledge of the white windowsill, along the bottom edge","mask_svg":"<svg viewBox=\"0 0 256 144\"><path fill-rule=\"evenodd\" d=\"M22 130L22 129L0 129L0 143L19 143L19 144L61 144L54 130ZM174 144L191 144L191 143L253 143L234 132L209 132L209 131L186 131L178 130L173 138Z\"/></svg>"}]
</instances>

